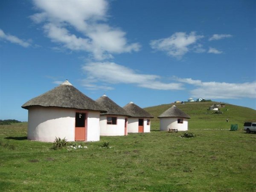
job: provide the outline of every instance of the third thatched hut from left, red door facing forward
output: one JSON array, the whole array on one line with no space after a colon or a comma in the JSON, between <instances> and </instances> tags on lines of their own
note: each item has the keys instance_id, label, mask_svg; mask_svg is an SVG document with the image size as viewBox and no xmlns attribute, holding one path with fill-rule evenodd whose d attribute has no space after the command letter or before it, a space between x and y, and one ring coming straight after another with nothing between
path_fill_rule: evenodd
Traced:
<instances>
[{"instance_id":1,"label":"third thatched hut from left, red door facing forward","mask_svg":"<svg viewBox=\"0 0 256 192\"><path fill-rule=\"evenodd\" d=\"M128 133L146 133L150 132L150 119L154 118L144 109L135 105L133 102L123 107L128 113Z\"/></svg>"}]
</instances>

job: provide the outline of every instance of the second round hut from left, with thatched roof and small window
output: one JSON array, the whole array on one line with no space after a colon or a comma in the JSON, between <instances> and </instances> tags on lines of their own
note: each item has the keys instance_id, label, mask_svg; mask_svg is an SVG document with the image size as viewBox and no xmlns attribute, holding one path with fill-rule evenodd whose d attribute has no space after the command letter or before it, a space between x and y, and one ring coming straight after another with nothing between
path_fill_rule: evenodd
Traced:
<instances>
[{"instance_id":1,"label":"second round hut from left, with thatched roof and small window","mask_svg":"<svg viewBox=\"0 0 256 192\"><path fill-rule=\"evenodd\" d=\"M127 135L128 113L105 94L96 100L106 113L100 113L99 127L101 136Z\"/></svg>"}]
</instances>

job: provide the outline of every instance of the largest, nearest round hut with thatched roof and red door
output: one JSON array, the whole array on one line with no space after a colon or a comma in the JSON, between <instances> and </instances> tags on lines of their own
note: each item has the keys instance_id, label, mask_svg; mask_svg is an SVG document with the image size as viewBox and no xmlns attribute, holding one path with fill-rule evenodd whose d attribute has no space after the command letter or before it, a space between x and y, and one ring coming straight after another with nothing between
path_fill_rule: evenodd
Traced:
<instances>
[{"instance_id":1,"label":"largest, nearest round hut with thatched roof and red door","mask_svg":"<svg viewBox=\"0 0 256 192\"><path fill-rule=\"evenodd\" d=\"M106 112L68 81L29 100L21 106L28 110L28 140L53 142L99 141L99 115Z\"/></svg>"}]
</instances>

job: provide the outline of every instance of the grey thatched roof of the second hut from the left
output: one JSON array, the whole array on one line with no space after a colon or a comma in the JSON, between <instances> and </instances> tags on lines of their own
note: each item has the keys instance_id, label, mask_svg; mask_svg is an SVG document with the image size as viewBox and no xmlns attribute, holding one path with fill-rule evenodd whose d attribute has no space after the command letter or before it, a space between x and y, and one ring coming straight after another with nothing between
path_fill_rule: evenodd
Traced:
<instances>
[{"instance_id":1,"label":"grey thatched roof of the second hut from the left","mask_svg":"<svg viewBox=\"0 0 256 192\"><path fill-rule=\"evenodd\" d=\"M101 115L108 114L128 116L128 113L123 108L121 108L111 99L109 99L105 94L97 99L96 102L99 103L99 105L101 105L102 108L105 109L105 111L107 111L107 113L101 113Z\"/></svg>"}]
</instances>

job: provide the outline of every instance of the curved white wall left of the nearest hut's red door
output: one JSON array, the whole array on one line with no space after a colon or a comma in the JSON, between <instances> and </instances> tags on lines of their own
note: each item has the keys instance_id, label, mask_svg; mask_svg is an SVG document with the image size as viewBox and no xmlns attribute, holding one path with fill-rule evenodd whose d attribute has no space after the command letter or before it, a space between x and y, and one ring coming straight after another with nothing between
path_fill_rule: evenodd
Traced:
<instances>
[{"instance_id":1,"label":"curved white wall left of the nearest hut's red door","mask_svg":"<svg viewBox=\"0 0 256 192\"><path fill-rule=\"evenodd\" d=\"M75 138L75 112L72 109L30 107L28 140L53 142L55 137L73 141Z\"/></svg>"}]
</instances>

